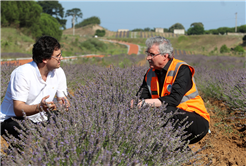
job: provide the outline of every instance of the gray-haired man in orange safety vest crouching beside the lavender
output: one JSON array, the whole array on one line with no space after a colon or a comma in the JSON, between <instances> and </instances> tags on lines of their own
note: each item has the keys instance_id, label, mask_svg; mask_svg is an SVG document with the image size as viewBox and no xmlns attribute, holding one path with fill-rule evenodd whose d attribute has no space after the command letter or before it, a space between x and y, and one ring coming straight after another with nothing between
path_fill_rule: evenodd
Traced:
<instances>
[{"instance_id":1,"label":"gray-haired man in orange safety vest crouching beside the lavender","mask_svg":"<svg viewBox=\"0 0 246 166\"><path fill-rule=\"evenodd\" d=\"M196 88L194 68L173 57L172 45L164 37L149 38L146 46L150 69L138 91L141 91L142 99L138 106L160 107L167 103L166 113L178 109L182 114L174 115L172 119L182 121L188 117L185 122L192 124L186 128L187 134L191 134L187 141L190 144L198 142L209 130L210 117Z\"/></svg>"}]
</instances>

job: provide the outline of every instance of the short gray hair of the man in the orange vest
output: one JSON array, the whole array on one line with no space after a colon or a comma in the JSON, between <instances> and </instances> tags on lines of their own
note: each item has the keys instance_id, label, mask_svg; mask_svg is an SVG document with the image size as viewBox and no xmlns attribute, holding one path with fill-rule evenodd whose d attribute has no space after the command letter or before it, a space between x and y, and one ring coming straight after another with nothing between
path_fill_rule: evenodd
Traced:
<instances>
[{"instance_id":1,"label":"short gray hair of the man in the orange vest","mask_svg":"<svg viewBox=\"0 0 246 166\"><path fill-rule=\"evenodd\" d=\"M160 54L168 54L168 58L173 58L172 44L165 37L155 36L155 37L148 38L145 44L148 49L153 45L158 45Z\"/></svg>"}]
</instances>

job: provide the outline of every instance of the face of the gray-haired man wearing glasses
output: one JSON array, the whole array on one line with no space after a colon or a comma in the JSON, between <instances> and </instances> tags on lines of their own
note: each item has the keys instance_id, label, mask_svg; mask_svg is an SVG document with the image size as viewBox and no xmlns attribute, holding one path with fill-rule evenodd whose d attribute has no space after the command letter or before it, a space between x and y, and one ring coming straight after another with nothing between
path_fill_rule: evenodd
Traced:
<instances>
[{"instance_id":1,"label":"face of the gray-haired man wearing glasses","mask_svg":"<svg viewBox=\"0 0 246 166\"><path fill-rule=\"evenodd\" d=\"M162 69L166 63L168 62L167 55L162 55L159 52L158 45L152 45L148 49L147 61L149 62L149 67L153 69L160 70ZM152 56L152 55L154 56Z\"/></svg>"}]
</instances>

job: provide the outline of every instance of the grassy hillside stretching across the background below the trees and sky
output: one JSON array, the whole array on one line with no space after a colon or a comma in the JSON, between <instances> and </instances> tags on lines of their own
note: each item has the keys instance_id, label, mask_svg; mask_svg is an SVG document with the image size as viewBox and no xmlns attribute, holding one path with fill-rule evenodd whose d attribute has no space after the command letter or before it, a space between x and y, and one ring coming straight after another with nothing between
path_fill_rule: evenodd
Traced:
<instances>
[{"instance_id":1,"label":"grassy hillside stretching across the background below the trees and sky","mask_svg":"<svg viewBox=\"0 0 246 166\"><path fill-rule=\"evenodd\" d=\"M64 55L70 56L75 54L88 54L96 53L89 50L82 50L80 43L86 41L89 38L92 38L97 29L104 29L106 31L105 37L108 39L126 41L128 43L134 43L142 46L142 50L145 48L146 38L115 38L116 32L109 31L104 27L99 25L87 25L85 27L76 28L75 36L73 36L73 29L66 29L63 31L60 43L62 44ZM20 32L18 29L14 28L0 28L1 39L0 39L0 58L17 58L17 57L30 57L32 45L35 40L30 36L27 36ZM136 32L134 32L135 34ZM151 35L158 35L154 33L145 32L144 37L150 37ZM161 34L160 34L161 35ZM162 35L166 35L162 33ZM131 33L130 33L131 36ZM134 36L134 35L133 35ZM169 35L170 36L170 35ZM204 55L222 55L219 53L220 47L223 44L226 44L228 48L235 48L237 45L242 45L246 50L246 45L242 44L243 36L226 36L226 35L192 35L192 36L177 36L169 37L174 49L176 50L185 50L195 54L204 54ZM120 46L119 46L120 47ZM108 48L109 50L109 48ZM112 52L112 51L109 51ZM113 51L115 52L115 51ZM16 56L13 56L9 53L15 53ZM22 53L22 54L20 54ZM97 52L99 53L99 52ZM18 54L18 55L17 55ZM231 55L234 54L223 54Z\"/></svg>"}]
</instances>

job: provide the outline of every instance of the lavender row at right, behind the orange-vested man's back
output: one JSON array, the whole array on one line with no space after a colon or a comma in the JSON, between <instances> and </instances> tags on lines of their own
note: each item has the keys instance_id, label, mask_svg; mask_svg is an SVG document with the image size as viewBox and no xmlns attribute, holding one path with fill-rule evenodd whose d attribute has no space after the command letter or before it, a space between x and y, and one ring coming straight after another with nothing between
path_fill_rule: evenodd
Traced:
<instances>
[{"instance_id":1,"label":"lavender row at right, behind the orange-vested man's back","mask_svg":"<svg viewBox=\"0 0 246 166\"><path fill-rule=\"evenodd\" d=\"M230 56L181 55L194 66L204 98L223 101L231 110L246 113L246 59Z\"/></svg>"}]
</instances>

